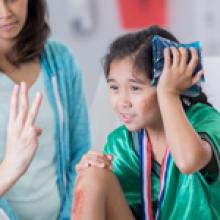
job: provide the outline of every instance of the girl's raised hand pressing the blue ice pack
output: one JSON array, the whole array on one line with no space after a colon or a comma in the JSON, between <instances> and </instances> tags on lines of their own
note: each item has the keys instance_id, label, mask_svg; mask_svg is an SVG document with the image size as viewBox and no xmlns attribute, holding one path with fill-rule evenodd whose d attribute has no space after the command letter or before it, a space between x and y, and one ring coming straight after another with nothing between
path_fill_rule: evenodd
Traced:
<instances>
[{"instance_id":1,"label":"girl's raised hand pressing the blue ice pack","mask_svg":"<svg viewBox=\"0 0 220 220\"><path fill-rule=\"evenodd\" d=\"M187 49L183 47L164 49L164 68L157 85L158 92L168 92L179 96L200 80L204 74L203 70L193 77L193 72L198 64L198 53L195 48L190 48L190 52L191 59L188 62Z\"/></svg>"}]
</instances>

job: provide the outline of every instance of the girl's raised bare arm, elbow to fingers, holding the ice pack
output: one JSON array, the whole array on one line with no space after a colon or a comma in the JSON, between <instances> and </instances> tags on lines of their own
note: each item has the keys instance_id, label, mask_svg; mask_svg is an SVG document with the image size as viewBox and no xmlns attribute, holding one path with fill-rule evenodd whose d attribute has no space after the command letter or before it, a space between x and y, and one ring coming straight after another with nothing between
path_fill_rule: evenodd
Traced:
<instances>
[{"instance_id":1,"label":"girl's raised bare arm, elbow to fingers, holding the ice pack","mask_svg":"<svg viewBox=\"0 0 220 220\"><path fill-rule=\"evenodd\" d=\"M186 49L171 48L164 51L164 70L158 83L158 102L161 110L165 134L177 167L186 174L205 167L212 158L212 149L203 141L189 123L183 109L180 94L200 80L203 71L195 77L192 73L198 63L195 49L191 49L189 63Z\"/></svg>"}]
</instances>

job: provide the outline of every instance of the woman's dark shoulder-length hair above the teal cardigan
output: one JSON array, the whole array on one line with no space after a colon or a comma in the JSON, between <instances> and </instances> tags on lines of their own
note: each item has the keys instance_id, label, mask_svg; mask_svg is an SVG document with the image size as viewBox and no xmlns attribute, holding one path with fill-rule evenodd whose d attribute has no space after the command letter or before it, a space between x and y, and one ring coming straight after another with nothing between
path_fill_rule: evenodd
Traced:
<instances>
[{"instance_id":1,"label":"woman's dark shoulder-length hair above the teal cardigan","mask_svg":"<svg viewBox=\"0 0 220 220\"><path fill-rule=\"evenodd\" d=\"M14 65L32 60L40 55L50 33L47 23L46 0L28 0L25 25L15 39L7 58Z\"/></svg>"}]
</instances>

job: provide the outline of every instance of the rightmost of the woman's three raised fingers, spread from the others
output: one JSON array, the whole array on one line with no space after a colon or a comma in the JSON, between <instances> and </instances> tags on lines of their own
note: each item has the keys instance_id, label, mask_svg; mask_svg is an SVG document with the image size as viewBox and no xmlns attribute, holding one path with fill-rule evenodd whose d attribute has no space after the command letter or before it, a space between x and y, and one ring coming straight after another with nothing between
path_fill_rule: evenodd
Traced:
<instances>
[{"instance_id":1,"label":"rightmost of the woman's three raised fingers, spread from the others","mask_svg":"<svg viewBox=\"0 0 220 220\"><path fill-rule=\"evenodd\" d=\"M27 117L27 122L26 122L26 126L32 126L34 125L38 112L39 112L39 108L40 108L40 104L42 101L42 94L40 92L37 92L34 102L30 108L30 111L28 113L28 117Z\"/></svg>"}]
</instances>

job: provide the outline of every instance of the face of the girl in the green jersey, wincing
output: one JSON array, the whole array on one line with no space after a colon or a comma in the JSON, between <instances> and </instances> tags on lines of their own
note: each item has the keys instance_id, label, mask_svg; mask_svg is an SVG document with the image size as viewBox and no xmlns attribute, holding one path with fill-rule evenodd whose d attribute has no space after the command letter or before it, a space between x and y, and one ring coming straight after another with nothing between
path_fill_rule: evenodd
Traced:
<instances>
[{"instance_id":1,"label":"face of the girl in the green jersey, wincing","mask_svg":"<svg viewBox=\"0 0 220 220\"><path fill-rule=\"evenodd\" d=\"M131 58L115 60L107 79L112 107L130 131L156 126L160 119L156 88L133 70Z\"/></svg>"}]
</instances>

